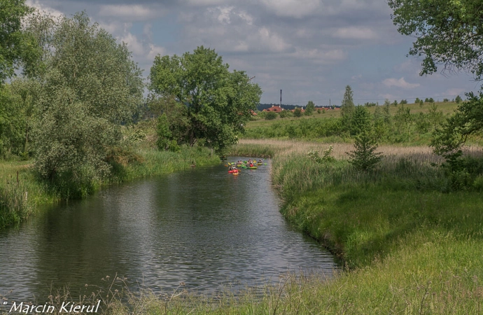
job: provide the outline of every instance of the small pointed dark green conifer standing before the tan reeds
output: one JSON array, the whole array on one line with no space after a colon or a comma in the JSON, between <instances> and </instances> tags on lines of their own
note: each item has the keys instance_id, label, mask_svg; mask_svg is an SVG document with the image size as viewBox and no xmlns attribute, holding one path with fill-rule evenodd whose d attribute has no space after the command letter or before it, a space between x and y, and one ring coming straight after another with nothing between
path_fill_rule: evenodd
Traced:
<instances>
[{"instance_id":1,"label":"small pointed dark green conifer standing before the tan reeds","mask_svg":"<svg viewBox=\"0 0 483 315\"><path fill-rule=\"evenodd\" d=\"M356 136L354 148L356 150L348 152L347 155L351 158L351 165L360 171L370 171L382 160L382 153L375 152L377 142L370 131L366 130Z\"/></svg>"}]
</instances>

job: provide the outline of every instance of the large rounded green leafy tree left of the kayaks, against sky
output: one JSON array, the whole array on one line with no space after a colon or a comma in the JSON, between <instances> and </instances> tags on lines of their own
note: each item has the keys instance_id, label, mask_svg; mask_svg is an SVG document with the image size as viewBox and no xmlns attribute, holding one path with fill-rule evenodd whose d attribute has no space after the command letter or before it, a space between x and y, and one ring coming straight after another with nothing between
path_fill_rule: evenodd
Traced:
<instances>
[{"instance_id":1,"label":"large rounded green leafy tree left of the kayaks, against sky","mask_svg":"<svg viewBox=\"0 0 483 315\"><path fill-rule=\"evenodd\" d=\"M203 139L220 153L237 142L262 91L244 71L228 68L215 50L203 46L182 56L155 57L150 89L176 100L178 116L169 119L179 144L193 146Z\"/></svg>"}]
</instances>

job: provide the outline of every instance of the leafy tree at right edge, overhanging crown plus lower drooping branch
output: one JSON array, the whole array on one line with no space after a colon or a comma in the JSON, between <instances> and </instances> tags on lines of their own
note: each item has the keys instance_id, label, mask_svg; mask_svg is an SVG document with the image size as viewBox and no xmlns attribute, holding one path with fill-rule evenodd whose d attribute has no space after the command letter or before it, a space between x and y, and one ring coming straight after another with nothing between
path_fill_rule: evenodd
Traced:
<instances>
[{"instance_id":1,"label":"leafy tree at right edge, overhanging crown plus lower drooping branch","mask_svg":"<svg viewBox=\"0 0 483 315\"><path fill-rule=\"evenodd\" d=\"M444 70L483 76L482 1L389 0L393 22L401 34L416 40L409 55L423 56L421 75ZM453 117L435 131L432 146L447 157L458 153L466 139L483 130L482 95L468 94Z\"/></svg>"}]
</instances>

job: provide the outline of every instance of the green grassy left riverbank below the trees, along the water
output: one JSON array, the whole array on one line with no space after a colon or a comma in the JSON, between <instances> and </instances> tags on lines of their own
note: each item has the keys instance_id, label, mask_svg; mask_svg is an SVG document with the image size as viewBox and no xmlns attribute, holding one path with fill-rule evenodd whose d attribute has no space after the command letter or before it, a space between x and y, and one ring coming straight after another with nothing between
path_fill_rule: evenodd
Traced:
<instances>
[{"instance_id":1,"label":"green grassy left riverbank below the trees, along the water","mask_svg":"<svg viewBox=\"0 0 483 315\"><path fill-rule=\"evenodd\" d=\"M220 159L206 148L183 147L177 153L158 151L139 146L129 154L111 157L111 176L90 186L82 195L92 194L112 183L125 183L148 176L156 176L188 169L216 165ZM33 172L34 161L6 161L0 163L0 230L19 224L35 214L39 206L55 204L65 198L62 188L38 181Z\"/></svg>"}]
</instances>

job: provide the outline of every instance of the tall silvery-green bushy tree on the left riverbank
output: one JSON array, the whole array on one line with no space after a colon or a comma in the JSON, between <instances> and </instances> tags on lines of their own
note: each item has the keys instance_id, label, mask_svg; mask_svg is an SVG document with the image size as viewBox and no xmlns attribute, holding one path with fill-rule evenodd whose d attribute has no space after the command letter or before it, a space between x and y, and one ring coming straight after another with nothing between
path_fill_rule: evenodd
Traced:
<instances>
[{"instance_id":1,"label":"tall silvery-green bushy tree on the left riverbank","mask_svg":"<svg viewBox=\"0 0 483 315\"><path fill-rule=\"evenodd\" d=\"M64 193L85 195L111 171L107 155L119 144L143 100L141 71L125 43L85 13L60 18L48 31L45 71L36 98L36 169L69 184Z\"/></svg>"}]
</instances>

